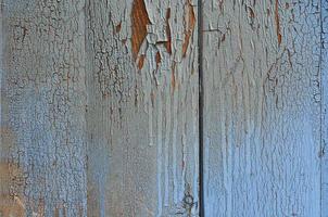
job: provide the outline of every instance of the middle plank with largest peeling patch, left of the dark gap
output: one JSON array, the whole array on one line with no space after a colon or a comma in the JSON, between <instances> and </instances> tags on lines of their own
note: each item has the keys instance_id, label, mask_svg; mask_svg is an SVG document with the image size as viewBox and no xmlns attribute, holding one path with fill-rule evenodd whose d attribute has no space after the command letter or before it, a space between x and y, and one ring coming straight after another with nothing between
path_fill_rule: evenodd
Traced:
<instances>
[{"instance_id":1,"label":"middle plank with largest peeling patch, left of the dark gap","mask_svg":"<svg viewBox=\"0 0 328 217\"><path fill-rule=\"evenodd\" d=\"M197 4L86 3L88 216L197 216Z\"/></svg>"}]
</instances>

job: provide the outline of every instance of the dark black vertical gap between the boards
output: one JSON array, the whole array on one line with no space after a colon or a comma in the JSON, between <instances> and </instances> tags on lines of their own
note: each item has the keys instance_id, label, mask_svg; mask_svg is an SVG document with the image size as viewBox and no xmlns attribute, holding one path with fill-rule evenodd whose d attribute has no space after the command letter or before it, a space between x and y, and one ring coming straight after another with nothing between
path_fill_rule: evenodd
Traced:
<instances>
[{"instance_id":1,"label":"dark black vertical gap between the boards","mask_svg":"<svg viewBox=\"0 0 328 217\"><path fill-rule=\"evenodd\" d=\"M203 161L203 107L204 107L204 89L203 89L203 7L202 0L198 0L198 64L199 64L199 215L205 216L204 209L204 161Z\"/></svg>"}]
</instances>

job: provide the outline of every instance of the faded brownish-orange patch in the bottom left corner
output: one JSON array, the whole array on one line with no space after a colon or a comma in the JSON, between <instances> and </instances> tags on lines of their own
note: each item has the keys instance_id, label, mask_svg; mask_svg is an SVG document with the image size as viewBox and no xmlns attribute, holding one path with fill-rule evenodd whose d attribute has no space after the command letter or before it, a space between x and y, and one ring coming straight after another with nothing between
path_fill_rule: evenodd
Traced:
<instances>
[{"instance_id":1,"label":"faded brownish-orange patch in the bottom left corner","mask_svg":"<svg viewBox=\"0 0 328 217\"><path fill-rule=\"evenodd\" d=\"M0 163L0 214L1 216L25 216L24 200L17 192L12 193L11 188L18 184L15 179L23 177L17 166L1 162ZM16 191L16 189L14 189Z\"/></svg>"}]
</instances>

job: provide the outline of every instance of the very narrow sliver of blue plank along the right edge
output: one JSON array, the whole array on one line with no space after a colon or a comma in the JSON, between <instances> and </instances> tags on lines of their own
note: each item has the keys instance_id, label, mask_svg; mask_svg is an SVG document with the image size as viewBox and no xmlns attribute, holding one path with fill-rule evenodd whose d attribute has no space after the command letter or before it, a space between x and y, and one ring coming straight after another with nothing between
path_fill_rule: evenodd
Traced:
<instances>
[{"instance_id":1,"label":"very narrow sliver of blue plank along the right edge","mask_svg":"<svg viewBox=\"0 0 328 217\"><path fill-rule=\"evenodd\" d=\"M328 1L321 0L321 217L328 217Z\"/></svg>"}]
</instances>

